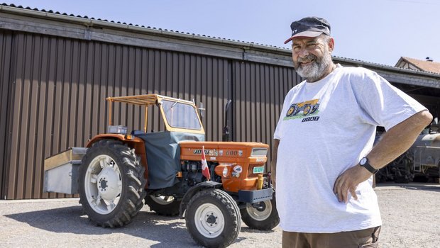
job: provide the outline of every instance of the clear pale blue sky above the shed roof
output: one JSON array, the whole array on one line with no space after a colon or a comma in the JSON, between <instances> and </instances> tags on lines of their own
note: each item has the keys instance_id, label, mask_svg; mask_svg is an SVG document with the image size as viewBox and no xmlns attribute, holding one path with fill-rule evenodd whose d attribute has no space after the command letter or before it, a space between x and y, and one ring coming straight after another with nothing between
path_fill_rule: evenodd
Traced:
<instances>
[{"instance_id":1,"label":"clear pale blue sky above the shed roof","mask_svg":"<svg viewBox=\"0 0 440 248\"><path fill-rule=\"evenodd\" d=\"M4 0L185 33L285 47L290 23L331 24L334 56L394 66L400 57L440 62L440 0Z\"/></svg>"}]
</instances>

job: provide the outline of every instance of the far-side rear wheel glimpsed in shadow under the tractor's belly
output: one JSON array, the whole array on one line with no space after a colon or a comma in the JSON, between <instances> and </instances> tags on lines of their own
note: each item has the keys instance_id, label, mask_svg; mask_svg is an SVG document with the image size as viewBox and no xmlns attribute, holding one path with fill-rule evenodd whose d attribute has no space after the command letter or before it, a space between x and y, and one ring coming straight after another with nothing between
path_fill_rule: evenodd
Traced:
<instances>
[{"instance_id":1,"label":"far-side rear wheel glimpsed in shadow under the tractor's belly","mask_svg":"<svg viewBox=\"0 0 440 248\"><path fill-rule=\"evenodd\" d=\"M155 211L159 215L178 215L181 202L177 201L173 196L148 195L145 197L145 204L150 207L150 210Z\"/></svg>"}]
</instances>

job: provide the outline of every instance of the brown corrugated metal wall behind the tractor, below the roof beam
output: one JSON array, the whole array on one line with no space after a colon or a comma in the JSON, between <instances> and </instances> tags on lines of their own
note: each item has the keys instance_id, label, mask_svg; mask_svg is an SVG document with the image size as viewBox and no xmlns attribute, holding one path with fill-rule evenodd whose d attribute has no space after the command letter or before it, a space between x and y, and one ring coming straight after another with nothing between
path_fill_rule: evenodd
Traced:
<instances>
[{"instance_id":1,"label":"brown corrugated metal wall behind the tractor, below the roof beam","mask_svg":"<svg viewBox=\"0 0 440 248\"><path fill-rule=\"evenodd\" d=\"M65 197L43 193L43 160L106 132L106 96L194 98L207 108L207 140L221 140L232 98L233 140L270 144L282 98L298 81L287 67L31 33L1 33L0 48L2 64L11 61L0 67L7 199ZM140 108L115 107L115 124L143 128ZM158 113L149 115L148 130L163 129Z\"/></svg>"}]
</instances>

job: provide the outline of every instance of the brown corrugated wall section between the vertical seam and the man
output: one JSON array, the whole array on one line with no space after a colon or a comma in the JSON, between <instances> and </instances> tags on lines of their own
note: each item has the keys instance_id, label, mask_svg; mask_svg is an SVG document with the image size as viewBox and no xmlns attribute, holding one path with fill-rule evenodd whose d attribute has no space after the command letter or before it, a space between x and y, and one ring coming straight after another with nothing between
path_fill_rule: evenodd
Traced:
<instances>
[{"instance_id":1,"label":"brown corrugated wall section between the vertical seam and the man","mask_svg":"<svg viewBox=\"0 0 440 248\"><path fill-rule=\"evenodd\" d=\"M301 79L292 67L251 62L234 62L233 74L233 140L271 146L284 97Z\"/></svg>"}]
</instances>

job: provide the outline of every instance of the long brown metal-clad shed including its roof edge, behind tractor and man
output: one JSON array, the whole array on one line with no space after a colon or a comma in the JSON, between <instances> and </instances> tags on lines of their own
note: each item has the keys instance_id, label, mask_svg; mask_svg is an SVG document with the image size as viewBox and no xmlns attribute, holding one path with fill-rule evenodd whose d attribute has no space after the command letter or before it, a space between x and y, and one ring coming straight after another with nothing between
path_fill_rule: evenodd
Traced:
<instances>
[{"instance_id":1,"label":"long brown metal-clad shed including its roof edge, behind tractor and man","mask_svg":"<svg viewBox=\"0 0 440 248\"><path fill-rule=\"evenodd\" d=\"M106 96L194 98L207 109L202 118L207 140L221 140L224 105L231 98L232 140L272 145L283 98L300 81L290 67L289 52L278 48L87 18L48 20L31 12L0 16L1 199L66 197L42 193L43 159L106 132ZM85 27L84 20L93 26ZM438 77L360 65L401 84L432 113L439 112ZM429 88L414 91L410 83ZM141 113L140 108L116 105L113 122L142 129ZM158 111L148 116L148 130L164 129Z\"/></svg>"}]
</instances>

